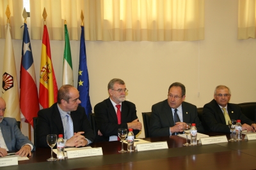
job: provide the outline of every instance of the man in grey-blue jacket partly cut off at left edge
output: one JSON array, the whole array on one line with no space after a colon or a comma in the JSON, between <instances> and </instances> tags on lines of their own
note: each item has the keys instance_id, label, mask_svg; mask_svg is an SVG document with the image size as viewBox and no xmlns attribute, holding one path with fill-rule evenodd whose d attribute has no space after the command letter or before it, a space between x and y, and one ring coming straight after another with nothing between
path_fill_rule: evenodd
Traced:
<instances>
[{"instance_id":1,"label":"man in grey-blue jacket partly cut off at left edge","mask_svg":"<svg viewBox=\"0 0 256 170\"><path fill-rule=\"evenodd\" d=\"M5 110L6 103L0 97L0 157L6 156L9 150L19 150L15 154L21 157L31 156L35 146L20 132L15 118L4 117Z\"/></svg>"}]
</instances>

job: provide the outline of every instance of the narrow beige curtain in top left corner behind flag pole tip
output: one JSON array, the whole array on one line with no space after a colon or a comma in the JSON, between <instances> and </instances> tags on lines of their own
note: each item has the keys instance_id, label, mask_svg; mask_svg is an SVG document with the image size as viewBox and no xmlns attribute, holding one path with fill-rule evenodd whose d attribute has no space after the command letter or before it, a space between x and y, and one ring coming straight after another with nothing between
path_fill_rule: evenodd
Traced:
<instances>
[{"instance_id":1,"label":"narrow beige curtain in top left corner behind flag pole tip","mask_svg":"<svg viewBox=\"0 0 256 170\"><path fill-rule=\"evenodd\" d=\"M20 27L24 25L24 18L22 17L23 1L20 0L0 0L0 38L5 38L4 27L7 24L7 17L5 14L7 5L9 5L11 12L9 22L12 39L22 39L23 29L20 29Z\"/></svg>"}]
</instances>

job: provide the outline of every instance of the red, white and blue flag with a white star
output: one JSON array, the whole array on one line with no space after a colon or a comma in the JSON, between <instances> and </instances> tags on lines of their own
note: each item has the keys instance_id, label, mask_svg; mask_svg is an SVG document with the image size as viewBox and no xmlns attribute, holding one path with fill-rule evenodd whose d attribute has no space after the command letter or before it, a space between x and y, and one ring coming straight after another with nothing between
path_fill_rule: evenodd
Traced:
<instances>
[{"instance_id":1,"label":"red, white and blue flag with a white star","mask_svg":"<svg viewBox=\"0 0 256 170\"><path fill-rule=\"evenodd\" d=\"M33 117L37 117L39 101L36 87L35 66L27 24L24 23L20 63L20 111L27 123L33 126Z\"/></svg>"}]
</instances>

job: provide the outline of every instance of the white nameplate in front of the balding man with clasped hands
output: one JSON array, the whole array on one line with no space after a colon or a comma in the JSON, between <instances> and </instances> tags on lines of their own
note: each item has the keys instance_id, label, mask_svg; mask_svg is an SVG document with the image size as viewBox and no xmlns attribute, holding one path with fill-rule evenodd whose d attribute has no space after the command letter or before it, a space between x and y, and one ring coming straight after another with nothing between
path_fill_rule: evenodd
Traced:
<instances>
[{"instance_id":1,"label":"white nameplate in front of the balding man with clasped hands","mask_svg":"<svg viewBox=\"0 0 256 170\"><path fill-rule=\"evenodd\" d=\"M67 151L68 159L79 158L79 157L92 157L103 155L102 148L90 148L83 150L69 150Z\"/></svg>"}]
</instances>

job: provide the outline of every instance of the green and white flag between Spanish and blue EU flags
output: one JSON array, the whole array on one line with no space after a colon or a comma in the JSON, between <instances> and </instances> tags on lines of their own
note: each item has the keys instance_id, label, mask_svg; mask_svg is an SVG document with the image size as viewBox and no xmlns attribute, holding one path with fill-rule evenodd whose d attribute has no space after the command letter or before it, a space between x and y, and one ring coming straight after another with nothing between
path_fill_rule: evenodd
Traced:
<instances>
[{"instance_id":1,"label":"green and white flag between Spanish and blue EU flags","mask_svg":"<svg viewBox=\"0 0 256 170\"><path fill-rule=\"evenodd\" d=\"M74 85L72 57L71 57L67 24L65 24L65 49L64 49L64 58L63 58L62 85Z\"/></svg>"}]
</instances>

